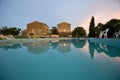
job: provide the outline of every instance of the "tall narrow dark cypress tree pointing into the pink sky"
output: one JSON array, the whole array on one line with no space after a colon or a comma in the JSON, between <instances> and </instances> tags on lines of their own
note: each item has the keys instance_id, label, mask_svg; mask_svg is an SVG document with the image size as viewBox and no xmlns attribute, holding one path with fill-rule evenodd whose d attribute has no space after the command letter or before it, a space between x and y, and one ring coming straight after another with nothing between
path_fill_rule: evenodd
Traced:
<instances>
[{"instance_id":1,"label":"tall narrow dark cypress tree pointing into the pink sky","mask_svg":"<svg viewBox=\"0 0 120 80\"><path fill-rule=\"evenodd\" d=\"M89 26L89 37L95 37L95 23L94 23L94 16L92 16Z\"/></svg>"}]
</instances>

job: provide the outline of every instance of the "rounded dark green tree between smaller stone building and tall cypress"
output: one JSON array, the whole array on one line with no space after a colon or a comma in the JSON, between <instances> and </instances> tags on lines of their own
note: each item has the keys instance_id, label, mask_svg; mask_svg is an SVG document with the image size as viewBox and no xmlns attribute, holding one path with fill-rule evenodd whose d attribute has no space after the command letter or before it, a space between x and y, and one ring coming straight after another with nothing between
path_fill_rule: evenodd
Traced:
<instances>
[{"instance_id":1,"label":"rounded dark green tree between smaller stone building and tall cypress","mask_svg":"<svg viewBox=\"0 0 120 80\"><path fill-rule=\"evenodd\" d=\"M86 31L83 27L76 27L72 31L72 36L73 37L86 37Z\"/></svg>"}]
</instances>

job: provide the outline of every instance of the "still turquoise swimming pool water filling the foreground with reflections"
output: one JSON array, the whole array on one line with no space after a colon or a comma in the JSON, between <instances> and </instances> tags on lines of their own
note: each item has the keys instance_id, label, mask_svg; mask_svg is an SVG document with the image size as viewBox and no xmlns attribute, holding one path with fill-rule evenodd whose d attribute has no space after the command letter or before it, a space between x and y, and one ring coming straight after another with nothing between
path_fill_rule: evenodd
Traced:
<instances>
[{"instance_id":1,"label":"still turquoise swimming pool water filling the foreground with reflections","mask_svg":"<svg viewBox=\"0 0 120 80\"><path fill-rule=\"evenodd\" d=\"M120 80L120 47L80 39L1 46L0 80Z\"/></svg>"}]
</instances>

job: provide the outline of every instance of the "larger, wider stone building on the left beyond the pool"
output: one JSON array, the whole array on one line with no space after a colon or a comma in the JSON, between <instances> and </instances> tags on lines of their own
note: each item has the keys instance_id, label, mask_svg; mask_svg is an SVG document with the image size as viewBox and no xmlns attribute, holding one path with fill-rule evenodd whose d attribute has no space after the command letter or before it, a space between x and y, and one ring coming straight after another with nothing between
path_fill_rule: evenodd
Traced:
<instances>
[{"instance_id":1,"label":"larger, wider stone building on the left beyond the pool","mask_svg":"<svg viewBox=\"0 0 120 80\"><path fill-rule=\"evenodd\" d=\"M23 35L28 37L45 37L48 36L48 26L45 23L34 21L27 24L27 29L23 30Z\"/></svg>"}]
</instances>

